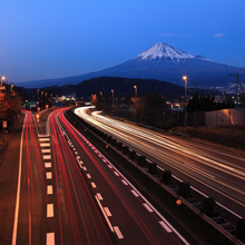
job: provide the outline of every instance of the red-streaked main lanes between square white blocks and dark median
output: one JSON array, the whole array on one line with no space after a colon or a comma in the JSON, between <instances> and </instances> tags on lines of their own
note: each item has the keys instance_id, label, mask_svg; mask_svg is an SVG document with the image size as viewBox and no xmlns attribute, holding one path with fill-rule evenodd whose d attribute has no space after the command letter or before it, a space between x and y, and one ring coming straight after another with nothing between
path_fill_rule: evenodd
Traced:
<instances>
[{"instance_id":1,"label":"red-streaked main lanes between square white blocks and dark median","mask_svg":"<svg viewBox=\"0 0 245 245\"><path fill-rule=\"evenodd\" d=\"M62 112L49 117L58 244L188 244Z\"/></svg>"}]
</instances>

